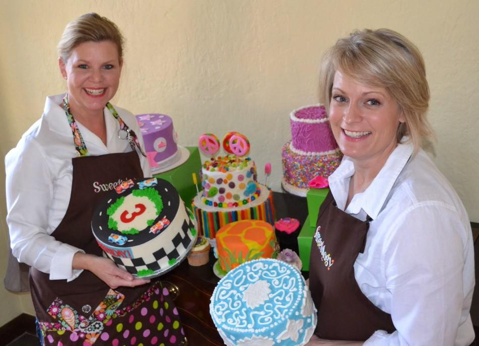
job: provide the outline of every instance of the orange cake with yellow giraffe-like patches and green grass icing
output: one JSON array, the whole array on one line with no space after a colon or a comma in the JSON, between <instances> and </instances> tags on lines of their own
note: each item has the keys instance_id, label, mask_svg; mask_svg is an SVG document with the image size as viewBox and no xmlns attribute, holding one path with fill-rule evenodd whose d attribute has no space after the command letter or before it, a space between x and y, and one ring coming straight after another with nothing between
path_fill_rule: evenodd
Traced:
<instances>
[{"instance_id":1,"label":"orange cake with yellow giraffe-like patches and green grass icing","mask_svg":"<svg viewBox=\"0 0 479 346\"><path fill-rule=\"evenodd\" d=\"M221 227L216 233L216 246L224 271L252 259L272 258L276 254L274 229L261 220L236 221Z\"/></svg>"}]
</instances>

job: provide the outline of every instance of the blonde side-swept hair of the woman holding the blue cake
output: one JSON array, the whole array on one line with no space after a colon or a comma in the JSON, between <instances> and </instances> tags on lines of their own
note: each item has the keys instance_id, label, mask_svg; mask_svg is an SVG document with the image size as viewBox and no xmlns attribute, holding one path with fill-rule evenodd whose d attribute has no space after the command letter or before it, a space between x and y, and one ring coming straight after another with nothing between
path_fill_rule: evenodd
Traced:
<instances>
[{"instance_id":1,"label":"blonde side-swept hair of the woman holding the blue cake","mask_svg":"<svg viewBox=\"0 0 479 346\"><path fill-rule=\"evenodd\" d=\"M320 99L326 109L337 70L358 82L386 89L396 100L406 118L398 127L398 143L407 136L416 153L422 140L433 135L426 117L430 95L424 60L407 38L389 29L367 29L339 39L321 65Z\"/></svg>"}]
</instances>

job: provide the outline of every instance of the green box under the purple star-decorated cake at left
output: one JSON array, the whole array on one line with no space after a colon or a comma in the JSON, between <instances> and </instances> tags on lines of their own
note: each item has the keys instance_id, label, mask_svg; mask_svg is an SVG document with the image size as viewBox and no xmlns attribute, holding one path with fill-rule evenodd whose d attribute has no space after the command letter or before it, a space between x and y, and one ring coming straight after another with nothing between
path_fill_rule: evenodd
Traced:
<instances>
[{"instance_id":1,"label":"green box under the purple star-decorated cake at left","mask_svg":"<svg viewBox=\"0 0 479 346\"><path fill-rule=\"evenodd\" d=\"M164 179L173 184L185 205L191 209L191 201L197 193L192 173L198 174L201 170L201 159L198 147L187 147L187 149L190 152L190 157L185 163L169 171L154 174L153 177ZM201 186L198 188L201 189Z\"/></svg>"}]
</instances>

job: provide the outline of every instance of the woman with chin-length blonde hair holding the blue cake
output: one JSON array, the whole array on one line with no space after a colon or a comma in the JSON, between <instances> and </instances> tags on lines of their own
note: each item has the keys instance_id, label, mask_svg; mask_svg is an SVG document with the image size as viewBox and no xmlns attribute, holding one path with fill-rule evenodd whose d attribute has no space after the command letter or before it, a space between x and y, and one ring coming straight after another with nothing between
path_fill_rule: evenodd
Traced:
<instances>
[{"instance_id":1,"label":"woman with chin-length blonde hair holding the blue cake","mask_svg":"<svg viewBox=\"0 0 479 346\"><path fill-rule=\"evenodd\" d=\"M355 31L326 53L320 89L344 158L312 242L308 346L468 346L471 228L421 149L432 134L421 53L392 30Z\"/></svg>"}]
</instances>

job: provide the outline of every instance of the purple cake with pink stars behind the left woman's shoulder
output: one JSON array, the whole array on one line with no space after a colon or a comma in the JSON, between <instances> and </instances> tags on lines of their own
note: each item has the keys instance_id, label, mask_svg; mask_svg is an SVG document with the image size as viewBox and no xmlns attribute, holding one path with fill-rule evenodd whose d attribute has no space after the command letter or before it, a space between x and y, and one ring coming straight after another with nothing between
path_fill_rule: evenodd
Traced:
<instances>
[{"instance_id":1,"label":"purple cake with pink stars behind the left woman's shoulder","mask_svg":"<svg viewBox=\"0 0 479 346\"><path fill-rule=\"evenodd\" d=\"M152 173L164 170L181 159L181 152L176 146L177 134L173 120L168 115L139 114L136 118Z\"/></svg>"}]
</instances>

